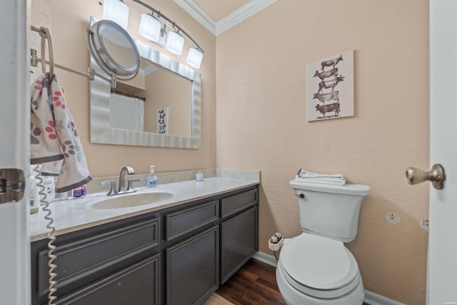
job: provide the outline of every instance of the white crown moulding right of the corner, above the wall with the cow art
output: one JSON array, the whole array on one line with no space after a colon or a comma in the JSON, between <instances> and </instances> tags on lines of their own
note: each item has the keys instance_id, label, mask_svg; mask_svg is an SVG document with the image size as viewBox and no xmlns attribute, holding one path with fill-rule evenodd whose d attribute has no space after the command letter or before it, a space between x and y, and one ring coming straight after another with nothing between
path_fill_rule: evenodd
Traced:
<instances>
[{"instance_id":1,"label":"white crown moulding right of the corner, above the wall with the cow art","mask_svg":"<svg viewBox=\"0 0 457 305\"><path fill-rule=\"evenodd\" d=\"M175 0L176 1L176 0ZM248 3L241 6L236 11L227 15L223 19L216 22L216 36L224 33L233 26L240 24L242 21L248 19L258 11L265 9L267 6L275 3L278 0L251 0Z\"/></svg>"}]
</instances>

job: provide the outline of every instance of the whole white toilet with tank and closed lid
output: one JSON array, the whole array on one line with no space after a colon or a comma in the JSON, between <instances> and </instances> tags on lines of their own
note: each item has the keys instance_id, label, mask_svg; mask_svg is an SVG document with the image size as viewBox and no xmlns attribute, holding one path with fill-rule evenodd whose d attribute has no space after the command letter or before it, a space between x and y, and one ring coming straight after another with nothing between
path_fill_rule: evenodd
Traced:
<instances>
[{"instance_id":1,"label":"whole white toilet with tank and closed lid","mask_svg":"<svg viewBox=\"0 0 457 305\"><path fill-rule=\"evenodd\" d=\"M357 261L344 243L357 235L358 213L370 187L290 181L303 233L286 239L276 281L289 305L361 305L365 296Z\"/></svg>"}]
</instances>

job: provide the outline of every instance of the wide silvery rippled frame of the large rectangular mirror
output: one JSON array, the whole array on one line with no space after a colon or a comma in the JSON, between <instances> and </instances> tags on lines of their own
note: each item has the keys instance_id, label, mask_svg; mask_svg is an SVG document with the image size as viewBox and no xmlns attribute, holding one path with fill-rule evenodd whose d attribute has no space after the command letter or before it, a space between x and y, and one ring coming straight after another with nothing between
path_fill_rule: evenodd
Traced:
<instances>
[{"instance_id":1,"label":"wide silvery rippled frame of the large rectangular mirror","mask_svg":"<svg viewBox=\"0 0 457 305\"><path fill-rule=\"evenodd\" d=\"M91 18L92 21L92 18ZM153 134L111 128L109 125L110 84L98 77L90 81L90 131L91 143L133 146L154 146L179 149L200 149L201 143L201 74L179 61L161 54L156 49L136 40L135 44L143 59L151 61L174 74L191 81L192 126L191 137ZM91 56L91 68L100 70Z\"/></svg>"}]
</instances>

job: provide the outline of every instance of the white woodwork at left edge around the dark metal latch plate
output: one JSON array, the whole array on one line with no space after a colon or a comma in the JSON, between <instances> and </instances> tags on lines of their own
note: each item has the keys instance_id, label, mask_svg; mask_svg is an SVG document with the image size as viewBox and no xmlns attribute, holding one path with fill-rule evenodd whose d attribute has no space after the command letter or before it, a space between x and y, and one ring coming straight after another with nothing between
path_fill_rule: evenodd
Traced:
<instances>
[{"instance_id":1,"label":"white woodwork at left edge around the dark metal latch plate","mask_svg":"<svg viewBox=\"0 0 457 305\"><path fill-rule=\"evenodd\" d=\"M26 41L29 1L2 0L0 12L0 171L29 167L29 72ZM28 180L27 180L28 181ZM4 185L5 181L1 181ZM26 191L27 193L27 191ZM1 196L1 194L0 194ZM0 203L1 304L30 304L28 195Z\"/></svg>"}]
</instances>

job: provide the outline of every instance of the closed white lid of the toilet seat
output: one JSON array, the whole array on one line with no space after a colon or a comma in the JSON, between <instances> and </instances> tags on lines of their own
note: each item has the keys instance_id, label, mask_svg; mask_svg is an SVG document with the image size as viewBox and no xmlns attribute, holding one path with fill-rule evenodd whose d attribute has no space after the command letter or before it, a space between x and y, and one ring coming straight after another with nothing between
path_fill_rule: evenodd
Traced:
<instances>
[{"instance_id":1,"label":"closed white lid of the toilet seat","mask_svg":"<svg viewBox=\"0 0 457 305\"><path fill-rule=\"evenodd\" d=\"M292 279L313 289L338 289L358 274L356 259L342 241L306 233L284 244L281 263Z\"/></svg>"}]
</instances>

